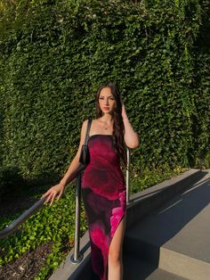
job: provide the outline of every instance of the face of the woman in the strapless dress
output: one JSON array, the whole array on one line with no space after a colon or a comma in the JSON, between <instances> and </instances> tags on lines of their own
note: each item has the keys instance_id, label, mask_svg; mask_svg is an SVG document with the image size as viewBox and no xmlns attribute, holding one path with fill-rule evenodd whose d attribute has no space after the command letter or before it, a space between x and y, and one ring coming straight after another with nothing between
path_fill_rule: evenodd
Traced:
<instances>
[{"instance_id":1,"label":"face of the woman in the strapless dress","mask_svg":"<svg viewBox=\"0 0 210 280\"><path fill-rule=\"evenodd\" d=\"M114 96L111 94L110 87L104 87L101 89L99 95L99 105L103 113L110 114L115 110L116 101Z\"/></svg>"}]
</instances>

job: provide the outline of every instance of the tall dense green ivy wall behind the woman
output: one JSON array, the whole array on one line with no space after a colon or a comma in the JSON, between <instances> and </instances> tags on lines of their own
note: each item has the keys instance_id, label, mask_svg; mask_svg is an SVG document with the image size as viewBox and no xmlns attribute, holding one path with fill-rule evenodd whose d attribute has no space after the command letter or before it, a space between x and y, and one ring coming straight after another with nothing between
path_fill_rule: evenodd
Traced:
<instances>
[{"instance_id":1,"label":"tall dense green ivy wall behind the woman","mask_svg":"<svg viewBox=\"0 0 210 280\"><path fill-rule=\"evenodd\" d=\"M208 1L19 0L0 11L3 167L61 175L108 79L141 136L136 167L209 165Z\"/></svg>"}]
</instances>

